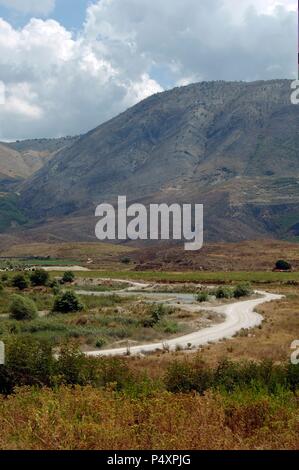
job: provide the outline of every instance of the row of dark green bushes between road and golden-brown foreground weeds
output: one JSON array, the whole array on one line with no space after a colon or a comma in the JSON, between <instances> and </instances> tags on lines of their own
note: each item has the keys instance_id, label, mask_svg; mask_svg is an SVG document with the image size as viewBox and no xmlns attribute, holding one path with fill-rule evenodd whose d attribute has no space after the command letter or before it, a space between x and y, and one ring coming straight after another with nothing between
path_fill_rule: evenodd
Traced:
<instances>
[{"instance_id":1,"label":"row of dark green bushes between road and golden-brown foreground weeds","mask_svg":"<svg viewBox=\"0 0 299 470\"><path fill-rule=\"evenodd\" d=\"M172 393L209 389L222 394L251 390L254 394L280 395L296 393L299 368L292 364L276 365L270 361L230 362L223 360L211 368L195 358L172 362L164 379L149 380L132 372L124 359L86 357L73 343L62 346L58 358L46 341L32 337L13 338L6 342L6 364L0 367L0 393L12 393L22 385L55 387L61 384L105 387L130 395L167 390Z\"/></svg>"}]
</instances>

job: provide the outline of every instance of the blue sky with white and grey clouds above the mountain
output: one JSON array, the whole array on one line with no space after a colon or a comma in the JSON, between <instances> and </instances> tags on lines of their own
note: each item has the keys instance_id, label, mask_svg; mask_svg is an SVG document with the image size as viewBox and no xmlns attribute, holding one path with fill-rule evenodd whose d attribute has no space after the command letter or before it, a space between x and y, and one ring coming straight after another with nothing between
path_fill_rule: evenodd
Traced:
<instances>
[{"instance_id":1,"label":"blue sky with white and grey clouds above the mountain","mask_svg":"<svg viewBox=\"0 0 299 470\"><path fill-rule=\"evenodd\" d=\"M0 140L202 80L297 77L297 0L0 0Z\"/></svg>"}]
</instances>

